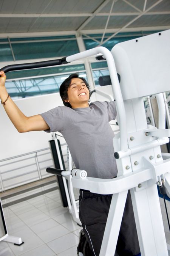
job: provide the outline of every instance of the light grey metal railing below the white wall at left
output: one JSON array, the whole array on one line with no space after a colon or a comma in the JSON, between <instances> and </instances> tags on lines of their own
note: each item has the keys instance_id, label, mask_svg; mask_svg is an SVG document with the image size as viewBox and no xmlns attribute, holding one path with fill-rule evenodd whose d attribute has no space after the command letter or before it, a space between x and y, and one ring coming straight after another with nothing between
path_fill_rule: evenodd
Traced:
<instances>
[{"instance_id":1,"label":"light grey metal railing below the white wall at left","mask_svg":"<svg viewBox=\"0 0 170 256\"><path fill-rule=\"evenodd\" d=\"M0 160L1 191L28 184L45 177L46 167L53 167L49 148L32 151Z\"/></svg>"}]
</instances>

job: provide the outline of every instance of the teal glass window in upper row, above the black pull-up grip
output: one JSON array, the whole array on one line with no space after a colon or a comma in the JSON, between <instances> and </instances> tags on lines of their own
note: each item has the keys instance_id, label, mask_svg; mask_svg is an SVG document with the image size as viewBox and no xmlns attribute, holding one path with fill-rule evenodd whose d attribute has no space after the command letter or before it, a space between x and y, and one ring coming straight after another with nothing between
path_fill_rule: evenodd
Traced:
<instances>
[{"instance_id":1,"label":"teal glass window in upper row, above the black pull-up grip","mask_svg":"<svg viewBox=\"0 0 170 256\"><path fill-rule=\"evenodd\" d=\"M79 52L76 37L10 38L15 60L65 57ZM8 39L0 39L0 61L11 61Z\"/></svg>"}]
</instances>

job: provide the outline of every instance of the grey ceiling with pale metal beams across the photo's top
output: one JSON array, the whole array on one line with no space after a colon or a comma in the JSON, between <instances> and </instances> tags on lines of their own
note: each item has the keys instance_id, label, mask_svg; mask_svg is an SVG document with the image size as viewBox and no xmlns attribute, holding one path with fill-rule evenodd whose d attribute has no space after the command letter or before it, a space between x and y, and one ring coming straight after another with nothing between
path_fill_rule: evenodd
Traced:
<instances>
[{"instance_id":1,"label":"grey ceiling with pale metal beams across the photo's top","mask_svg":"<svg viewBox=\"0 0 170 256\"><path fill-rule=\"evenodd\" d=\"M0 0L0 37L170 28L170 0Z\"/></svg>"}]
</instances>

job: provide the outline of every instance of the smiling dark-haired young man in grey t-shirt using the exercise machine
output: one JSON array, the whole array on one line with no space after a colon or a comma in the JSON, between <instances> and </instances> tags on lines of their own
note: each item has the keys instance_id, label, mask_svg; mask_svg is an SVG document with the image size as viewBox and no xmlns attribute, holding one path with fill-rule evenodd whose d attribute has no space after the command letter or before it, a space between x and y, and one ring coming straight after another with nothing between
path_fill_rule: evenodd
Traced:
<instances>
[{"instance_id":1,"label":"smiling dark-haired young man in grey t-shirt using the exercise machine","mask_svg":"<svg viewBox=\"0 0 170 256\"><path fill-rule=\"evenodd\" d=\"M88 176L111 179L117 176L114 159L114 133L109 121L116 118L115 102L93 102L89 105L89 85L82 77L72 74L60 86L63 104L36 116L25 116L5 89L5 74L0 72L2 104L19 132L59 131L65 138L76 168ZM88 256L99 256L112 195L99 195L80 190L80 221L88 240ZM119 256L139 253L130 193L128 193L117 242Z\"/></svg>"}]
</instances>

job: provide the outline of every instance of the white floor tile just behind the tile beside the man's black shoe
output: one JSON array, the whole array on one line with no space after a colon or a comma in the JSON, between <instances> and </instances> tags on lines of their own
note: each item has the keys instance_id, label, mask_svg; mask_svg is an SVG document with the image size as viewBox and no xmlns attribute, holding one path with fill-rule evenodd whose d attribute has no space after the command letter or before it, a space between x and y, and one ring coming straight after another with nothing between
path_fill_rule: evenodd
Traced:
<instances>
[{"instance_id":1,"label":"white floor tile just behind the tile beside the man's black shoe","mask_svg":"<svg viewBox=\"0 0 170 256\"><path fill-rule=\"evenodd\" d=\"M68 229L64 228L61 225L58 225L54 228L50 228L46 231L39 233L38 236L40 237L40 239L43 240L43 242L48 243L56 238L65 236L68 233L70 233Z\"/></svg>"}]
</instances>

